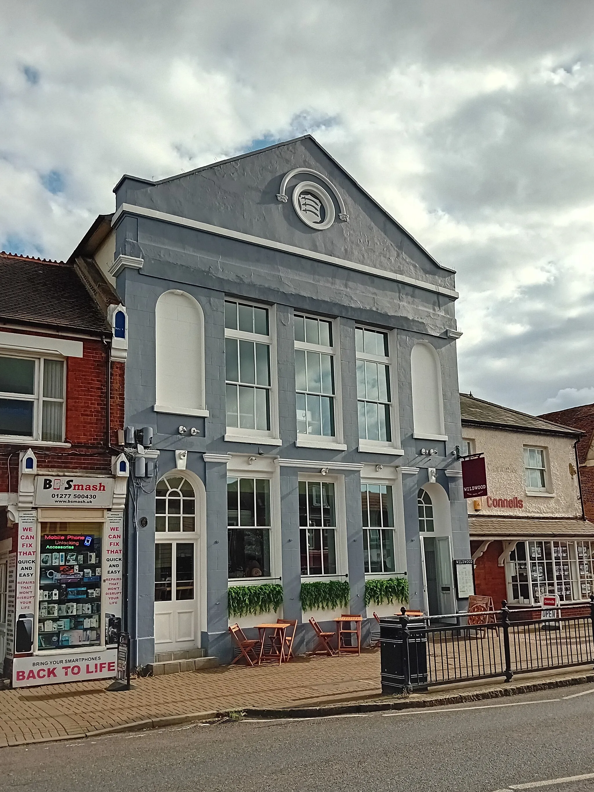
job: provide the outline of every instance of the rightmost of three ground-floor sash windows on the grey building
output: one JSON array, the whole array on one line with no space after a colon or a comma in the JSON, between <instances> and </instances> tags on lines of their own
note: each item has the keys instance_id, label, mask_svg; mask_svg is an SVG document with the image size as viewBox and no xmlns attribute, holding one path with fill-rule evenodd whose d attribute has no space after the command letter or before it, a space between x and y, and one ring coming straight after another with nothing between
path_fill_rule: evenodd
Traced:
<instances>
[{"instance_id":1,"label":"rightmost of three ground-floor sash windows on the grey building","mask_svg":"<svg viewBox=\"0 0 594 792\"><path fill-rule=\"evenodd\" d=\"M361 512L365 572L395 572L392 487L387 484L361 484Z\"/></svg>"}]
</instances>

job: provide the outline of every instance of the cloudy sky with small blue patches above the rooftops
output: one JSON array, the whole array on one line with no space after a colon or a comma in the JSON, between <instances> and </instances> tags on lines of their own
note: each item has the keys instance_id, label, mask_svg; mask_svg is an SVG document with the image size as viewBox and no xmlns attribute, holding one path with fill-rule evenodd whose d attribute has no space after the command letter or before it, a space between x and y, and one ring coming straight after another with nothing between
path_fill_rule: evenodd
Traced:
<instances>
[{"instance_id":1,"label":"cloudy sky with small blue patches above the rooftops","mask_svg":"<svg viewBox=\"0 0 594 792\"><path fill-rule=\"evenodd\" d=\"M0 248L309 131L458 271L461 390L594 402L592 0L19 0L0 35Z\"/></svg>"}]
</instances>

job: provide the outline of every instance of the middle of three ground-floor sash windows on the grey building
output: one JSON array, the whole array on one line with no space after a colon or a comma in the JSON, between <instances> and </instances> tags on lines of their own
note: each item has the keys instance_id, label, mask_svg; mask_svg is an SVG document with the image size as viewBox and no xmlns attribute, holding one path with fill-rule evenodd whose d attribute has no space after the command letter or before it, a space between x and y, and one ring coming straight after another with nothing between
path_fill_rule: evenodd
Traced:
<instances>
[{"instance_id":1,"label":"middle of three ground-floor sash windows on the grey building","mask_svg":"<svg viewBox=\"0 0 594 792\"><path fill-rule=\"evenodd\" d=\"M348 577L345 479L299 475L301 579Z\"/></svg>"}]
</instances>

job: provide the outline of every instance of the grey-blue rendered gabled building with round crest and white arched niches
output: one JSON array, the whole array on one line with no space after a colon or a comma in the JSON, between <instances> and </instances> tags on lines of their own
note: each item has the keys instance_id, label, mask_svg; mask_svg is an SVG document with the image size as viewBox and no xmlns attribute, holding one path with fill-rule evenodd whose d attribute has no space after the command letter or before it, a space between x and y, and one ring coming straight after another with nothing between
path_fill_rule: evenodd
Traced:
<instances>
[{"instance_id":1,"label":"grey-blue rendered gabled building with round crest and white arched niches","mask_svg":"<svg viewBox=\"0 0 594 792\"><path fill-rule=\"evenodd\" d=\"M126 425L152 427L152 456L159 451L152 478L131 485L128 629L135 663L192 645L229 661L228 626L236 621L227 615L230 584L281 582L284 604L274 619L298 620L297 651L312 637L312 614L299 601L303 581L348 580L348 610L364 617L379 611L364 604L366 568L367 578L406 573L410 607L460 607L451 558L470 558L470 543L454 451L462 440L454 273L308 135L160 182L124 176L114 192L112 232L95 260L128 312ZM366 356L367 338L376 346ZM307 360L307 374L295 360ZM358 360L360 372L371 372L367 386L361 374L358 385ZM321 367L317 374L314 367ZM366 387L369 404L361 407ZM188 481L195 498L195 524L173 537L177 550L161 545L179 522L168 517L164 534L162 518L155 532L154 490L164 476L173 482L169 489L179 478ZM375 551L366 544L366 482L369 493L389 493L392 515L382 501L370 525L379 519L394 527L391 551L392 539L380 539L381 531ZM228 512L234 488L255 497L255 510L267 516L233 544L234 554L240 549L230 559L229 526L254 522L247 501ZM260 496L252 496L258 488ZM364 497L378 503L383 496ZM304 524L304 498L311 510L330 507L329 517L322 509L322 525L332 530L307 533L306 525L320 524L310 516ZM260 548L268 543L255 561L247 561L248 539ZM158 568L166 569L158 599L176 599L169 568L177 552L185 610L155 604L155 547ZM375 574L370 552L379 558ZM162 595L166 585L173 595ZM322 623L333 615L315 613Z\"/></svg>"}]
</instances>

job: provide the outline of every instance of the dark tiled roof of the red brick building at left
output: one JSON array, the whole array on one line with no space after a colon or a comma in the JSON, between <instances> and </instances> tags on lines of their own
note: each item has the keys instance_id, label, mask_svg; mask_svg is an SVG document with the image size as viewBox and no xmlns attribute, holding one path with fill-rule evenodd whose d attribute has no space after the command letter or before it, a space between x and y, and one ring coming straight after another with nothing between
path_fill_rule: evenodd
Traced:
<instances>
[{"instance_id":1,"label":"dark tiled roof of the red brick building at left","mask_svg":"<svg viewBox=\"0 0 594 792\"><path fill-rule=\"evenodd\" d=\"M0 319L110 332L107 319L74 266L15 253L0 253Z\"/></svg>"}]
</instances>

